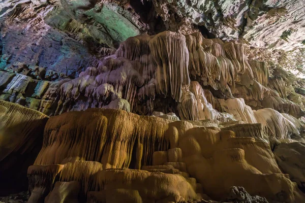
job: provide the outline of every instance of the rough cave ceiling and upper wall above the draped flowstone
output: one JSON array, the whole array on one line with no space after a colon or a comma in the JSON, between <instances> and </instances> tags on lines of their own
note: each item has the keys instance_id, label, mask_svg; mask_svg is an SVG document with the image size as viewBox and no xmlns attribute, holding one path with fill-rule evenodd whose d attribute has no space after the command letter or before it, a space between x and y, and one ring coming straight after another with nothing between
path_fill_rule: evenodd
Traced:
<instances>
[{"instance_id":1,"label":"rough cave ceiling and upper wall above the draped flowstone","mask_svg":"<svg viewBox=\"0 0 305 203\"><path fill-rule=\"evenodd\" d=\"M12 3L14 3L14 6L10 6ZM7 16L12 16L17 21L26 23L29 21L32 24L38 24L37 20L34 21L33 18L39 17L50 27L65 31L70 37L94 52L100 50L100 47L117 48L119 43L125 41L128 37L146 31L156 34L160 31L171 30L188 34L199 30L207 38L239 39L252 46L263 48L263 50L268 50L266 48L270 50L283 49L285 51L282 51L280 55L287 55L285 59L282 59L286 63L285 66L282 64L283 68L298 73L303 72L305 61L305 37L303 35L305 14L303 4L302 0L53 0L49 2L42 0L27 2L5 0L2 2L0 17L4 20ZM5 21L11 25L16 24L12 20ZM2 29L5 29L6 26L8 25L1 25ZM22 31L24 31L18 31L17 26L17 24L13 26L13 30L16 29L16 31L10 29L13 36L15 36L15 32L23 33ZM44 26L39 25L39 27ZM50 30L49 28L48 30ZM38 32L37 35L39 34L41 35ZM51 57L53 62L59 57L59 61L56 62L62 69L60 73L74 76L75 74L67 72L77 72L83 68L84 63L90 61L89 55L83 50L84 48L77 43L69 42L65 36L59 37L58 33L52 33L52 31L47 31L45 35L54 35L57 43L62 43L64 39L64 45L60 45L62 47L60 49L58 47L58 50L69 54L56 53ZM29 33L26 37L33 39ZM17 38L16 42L19 44L28 44L28 41L22 41L18 36L15 38ZM15 38L7 40L14 40ZM37 41L40 40L37 39ZM6 40L3 43L5 44L5 42ZM57 43L53 42L54 47ZM67 50L69 45L80 47L76 50ZM33 48L33 51L39 54L44 52L39 51L40 48L34 45L27 47L25 50L31 53L30 48ZM24 49L21 48L20 50ZM14 52L19 53L14 48L8 51L13 55ZM287 54L286 51L288 51ZM3 52L6 53L6 50ZM83 60L80 61L75 57L76 53L81 54ZM46 54L45 52L41 53L42 57L48 58L49 56L46 56ZM276 55L271 54L271 58L275 58ZM65 59L65 57L67 58ZM270 57L268 58L272 61ZM33 58L32 63L35 61L37 61L37 57ZM71 63L73 63L72 66ZM58 66L57 69L59 69ZM65 71L67 66L68 69L73 69L73 71ZM305 75L302 77L305 77Z\"/></svg>"}]
</instances>

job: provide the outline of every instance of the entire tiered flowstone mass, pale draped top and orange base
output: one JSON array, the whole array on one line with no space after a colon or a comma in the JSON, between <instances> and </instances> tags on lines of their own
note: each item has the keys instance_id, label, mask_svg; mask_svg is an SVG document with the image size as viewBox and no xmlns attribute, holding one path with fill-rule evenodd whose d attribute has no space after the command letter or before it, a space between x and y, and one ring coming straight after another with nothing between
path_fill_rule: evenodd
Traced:
<instances>
[{"instance_id":1,"label":"entire tiered flowstone mass, pale draped top and orange base","mask_svg":"<svg viewBox=\"0 0 305 203\"><path fill-rule=\"evenodd\" d=\"M303 168L291 166L303 156L304 105L291 78L200 32L130 37L110 52L78 77L0 75L1 99L51 116L0 101L0 180L33 164L28 202L198 202L245 190L304 201Z\"/></svg>"}]
</instances>

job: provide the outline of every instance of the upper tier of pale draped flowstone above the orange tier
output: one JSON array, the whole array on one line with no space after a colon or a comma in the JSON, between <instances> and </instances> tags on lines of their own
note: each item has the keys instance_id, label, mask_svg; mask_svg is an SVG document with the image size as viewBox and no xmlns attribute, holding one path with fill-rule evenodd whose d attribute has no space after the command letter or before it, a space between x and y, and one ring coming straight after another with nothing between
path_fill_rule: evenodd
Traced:
<instances>
[{"instance_id":1,"label":"upper tier of pale draped flowstone above the orange tier","mask_svg":"<svg viewBox=\"0 0 305 203\"><path fill-rule=\"evenodd\" d=\"M247 60L243 50L240 43L205 39L200 32L140 35L72 80L3 72L1 97L47 115L102 107L158 111L181 120L262 123L269 137L302 140L297 118L303 95L270 77L264 62Z\"/></svg>"}]
</instances>

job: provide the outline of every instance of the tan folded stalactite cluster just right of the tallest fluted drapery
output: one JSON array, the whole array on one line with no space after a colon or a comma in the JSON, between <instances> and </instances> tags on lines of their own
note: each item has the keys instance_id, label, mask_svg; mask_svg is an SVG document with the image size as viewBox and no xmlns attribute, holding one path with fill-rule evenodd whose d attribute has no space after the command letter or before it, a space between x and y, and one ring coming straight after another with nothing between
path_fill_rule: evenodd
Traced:
<instances>
[{"instance_id":1,"label":"tan folded stalactite cluster just right of the tallest fluted drapery","mask_svg":"<svg viewBox=\"0 0 305 203\"><path fill-rule=\"evenodd\" d=\"M239 44L223 43L222 41L202 39L196 33L195 39L187 36L187 46L190 53L190 73L198 76L204 85L210 85L215 90L227 91L230 96L235 91L235 82L240 82L239 75L247 71L251 83L253 74L245 63L243 47ZM196 40L201 41L197 43ZM194 44L196 43L196 46ZM197 55L198 61L197 62ZM196 56L196 57L195 57ZM249 81L247 81L249 83ZM248 85L249 86L249 85Z\"/></svg>"}]
</instances>

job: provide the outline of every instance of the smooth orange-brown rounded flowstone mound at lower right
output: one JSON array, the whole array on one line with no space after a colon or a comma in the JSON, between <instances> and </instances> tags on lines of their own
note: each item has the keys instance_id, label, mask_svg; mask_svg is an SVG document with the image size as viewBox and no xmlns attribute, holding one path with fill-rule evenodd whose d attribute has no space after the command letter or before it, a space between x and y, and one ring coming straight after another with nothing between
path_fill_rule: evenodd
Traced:
<instances>
[{"instance_id":1,"label":"smooth orange-brown rounded flowstone mound at lower right","mask_svg":"<svg viewBox=\"0 0 305 203\"><path fill-rule=\"evenodd\" d=\"M229 185L243 186L250 194L259 193L269 200L294 202L304 196L285 175L279 174L280 169L266 143L255 142L253 138L235 138L230 131L195 127L188 130L187 136L179 138L179 147L188 173L212 198L225 198ZM264 186L255 186L263 182ZM277 195L280 193L285 195Z\"/></svg>"}]
</instances>

